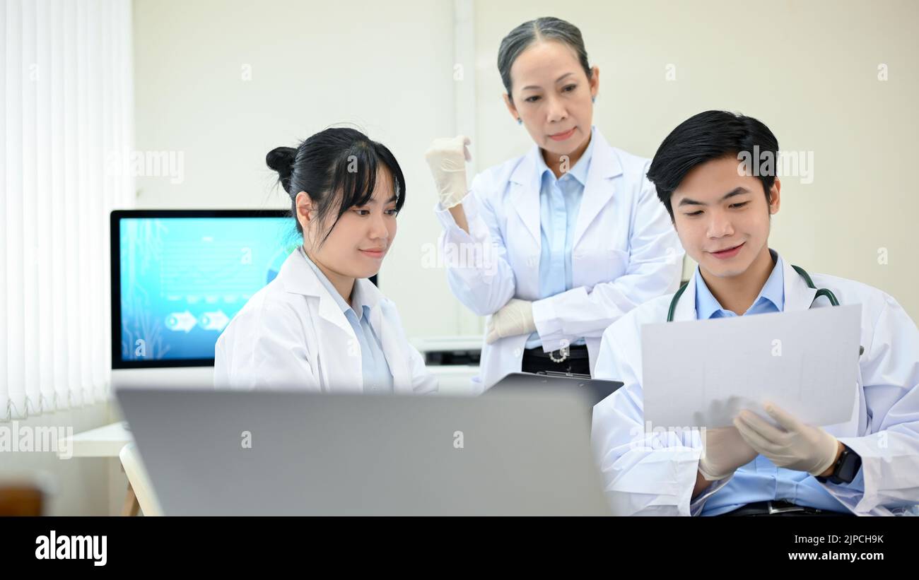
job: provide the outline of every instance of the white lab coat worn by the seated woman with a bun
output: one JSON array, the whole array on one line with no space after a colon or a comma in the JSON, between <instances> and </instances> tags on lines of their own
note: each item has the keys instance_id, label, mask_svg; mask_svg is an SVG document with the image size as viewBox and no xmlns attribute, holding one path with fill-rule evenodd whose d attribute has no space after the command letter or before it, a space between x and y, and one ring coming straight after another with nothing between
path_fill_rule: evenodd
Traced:
<instances>
[{"instance_id":1,"label":"white lab coat worn by the seated woman with a bun","mask_svg":"<svg viewBox=\"0 0 919 580\"><path fill-rule=\"evenodd\" d=\"M369 296L369 324L390 365L393 392L437 391L437 377L405 339L395 305L369 280L355 284ZM214 352L214 385L363 392L354 329L299 251L223 330Z\"/></svg>"}]
</instances>

